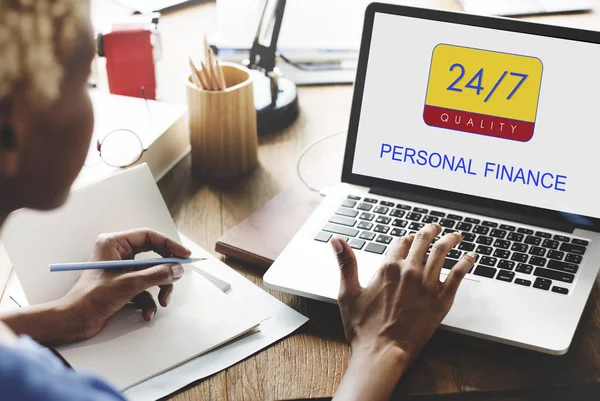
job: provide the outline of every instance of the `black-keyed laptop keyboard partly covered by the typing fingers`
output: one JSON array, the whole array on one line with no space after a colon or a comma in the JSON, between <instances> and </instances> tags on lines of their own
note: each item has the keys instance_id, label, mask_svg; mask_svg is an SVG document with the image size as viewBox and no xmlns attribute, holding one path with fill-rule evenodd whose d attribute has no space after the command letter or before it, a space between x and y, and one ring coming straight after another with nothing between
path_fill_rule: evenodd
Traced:
<instances>
[{"instance_id":1,"label":"black-keyed laptop keyboard partly covered by the typing fingers","mask_svg":"<svg viewBox=\"0 0 600 401\"><path fill-rule=\"evenodd\" d=\"M569 293L589 245L569 235L355 195L344 199L314 239L341 237L356 251L382 255L395 237L429 223L442 226L440 235L460 232L464 238L448 254L445 269L473 251L478 259L469 273L557 294Z\"/></svg>"}]
</instances>

